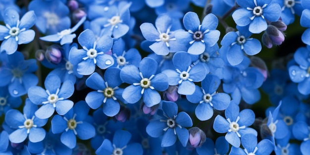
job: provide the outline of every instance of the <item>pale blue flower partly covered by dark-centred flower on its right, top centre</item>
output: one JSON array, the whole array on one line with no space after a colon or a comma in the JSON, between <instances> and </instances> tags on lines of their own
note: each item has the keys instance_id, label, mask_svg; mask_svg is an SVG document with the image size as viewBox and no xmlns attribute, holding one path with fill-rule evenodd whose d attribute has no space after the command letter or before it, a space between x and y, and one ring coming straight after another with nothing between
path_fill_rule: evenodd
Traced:
<instances>
[{"instance_id":1,"label":"pale blue flower partly covered by dark-centred flower on its right, top centre","mask_svg":"<svg viewBox=\"0 0 310 155\"><path fill-rule=\"evenodd\" d=\"M171 29L173 29L172 18L167 14L159 15L156 18L155 26L152 23L140 25L143 37L150 42L154 42L149 48L157 55L167 55L169 52L186 50L185 46L176 42L174 34L177 31L171 32Z\"/></svg>"}]
</instances>

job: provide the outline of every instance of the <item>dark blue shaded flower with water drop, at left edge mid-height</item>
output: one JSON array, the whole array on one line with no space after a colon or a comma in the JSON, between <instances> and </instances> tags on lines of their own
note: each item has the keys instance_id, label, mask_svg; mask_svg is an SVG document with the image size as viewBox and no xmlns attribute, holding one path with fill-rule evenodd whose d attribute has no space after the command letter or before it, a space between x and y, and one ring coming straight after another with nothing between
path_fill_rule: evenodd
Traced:
<instances>
[{"instance_id":1,"label":"dark blue shaded flower with water drop, at left edge mid-height","mask_svg":"<svg viewBox=\"0 0 310 155\"><path fill-rule=\"evenodd\" d=\"M24 60L21 52L4 54L2 58L0 87L8 85L12 97L25 95L30 87L38 84L38 77L33 73L38 69L35 59Z\"/></svg>"}]
</instances>

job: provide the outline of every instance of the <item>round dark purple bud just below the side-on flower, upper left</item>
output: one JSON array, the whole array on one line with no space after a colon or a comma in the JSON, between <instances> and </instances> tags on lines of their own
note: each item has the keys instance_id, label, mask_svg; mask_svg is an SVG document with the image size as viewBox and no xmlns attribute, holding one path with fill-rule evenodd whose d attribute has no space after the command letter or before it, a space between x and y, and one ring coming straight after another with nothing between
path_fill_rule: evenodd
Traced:
<instances>
[{"instance_id":1,"label":"round dark purple bud just below the side-on flower, upper left","mask_svg":"<svg viewBox=\"0 0 310 155\"><path fill-rule=\"evenodd\" d=\"M48 47L48 49L46 50L45 56L50 62L58 64L62 60L62 54L61 54L62 50L63 49L60 46L52 45Z\"/></svg>"}]
</instances>

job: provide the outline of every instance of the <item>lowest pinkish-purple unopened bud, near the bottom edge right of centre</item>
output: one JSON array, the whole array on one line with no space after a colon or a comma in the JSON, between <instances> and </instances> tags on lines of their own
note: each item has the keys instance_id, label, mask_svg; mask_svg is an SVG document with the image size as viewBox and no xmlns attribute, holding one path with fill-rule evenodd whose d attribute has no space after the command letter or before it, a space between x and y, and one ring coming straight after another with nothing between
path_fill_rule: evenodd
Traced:
<instances>
[{"instance_id":1,"label":"lowest pinkish-purple unopened bud, near the bottom edge right of centre","mask_svg":"<svg viewBox=\"0 0 310 155\"><path fill-rule=\"evenodd\" d=\"M192 127L189 130L190 137L189 141L192 147L201 147L206 141L206 134L203 130L198 127Z\"/></svg>"}]
</instances>

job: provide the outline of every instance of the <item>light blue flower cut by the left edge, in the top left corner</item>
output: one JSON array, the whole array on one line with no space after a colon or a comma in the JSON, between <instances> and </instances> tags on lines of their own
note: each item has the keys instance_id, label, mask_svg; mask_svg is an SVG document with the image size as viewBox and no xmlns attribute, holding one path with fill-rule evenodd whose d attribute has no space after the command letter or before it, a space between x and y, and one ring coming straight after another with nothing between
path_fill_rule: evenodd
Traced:
<instances>
[{"instance_id":1,"label":"light blue flower cut by the left edge, in the top left corner","mask_svg":"<svg viewBox=\"0 0 310 155\"><path fill-rule=\"evenodd\" d=\"M0 25L0 52L12 54L20 44L28 44L35 37L35 31L28 30L36 22L34 11L28 11L19 20L19 14L15 9L7 8L3 14L5 26Z\"/></svg>"}]
</instances>

